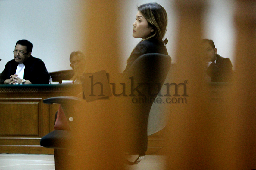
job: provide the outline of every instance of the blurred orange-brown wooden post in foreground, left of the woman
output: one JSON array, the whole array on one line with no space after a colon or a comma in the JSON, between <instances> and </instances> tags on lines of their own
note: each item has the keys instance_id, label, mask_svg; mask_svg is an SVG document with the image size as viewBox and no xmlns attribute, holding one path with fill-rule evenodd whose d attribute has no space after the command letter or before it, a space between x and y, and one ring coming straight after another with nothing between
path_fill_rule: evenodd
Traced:
<instances>
[{"instance_id":1,"label":"blurred orange-brown wooden post in foreground, left of the woman","mask_svg":"<svg viewBox=\"0 0 256 170\"><path fill-rule=\"evenodd\" d=\"M119 72L118 1L87 1L87 72L105 70L110 81ZM76 127L76 160L73 169L123 169L120 143L120 105L117 97L84 102L76 107L80 123Z\"/></svg>"}]
</instances>

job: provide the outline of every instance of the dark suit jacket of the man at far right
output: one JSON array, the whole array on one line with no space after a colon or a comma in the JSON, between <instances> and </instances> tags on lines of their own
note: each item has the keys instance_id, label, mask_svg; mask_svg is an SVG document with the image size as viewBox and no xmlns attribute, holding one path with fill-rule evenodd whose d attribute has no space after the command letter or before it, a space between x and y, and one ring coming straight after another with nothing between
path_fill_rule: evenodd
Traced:
<instances>
[{"instance_id":1,"label":"dark suit jacket of the man at far right","mask_svg":"<svg viewBox=\"0 0 256 170\"><path fill-rule=\"evenodd\" d=\"M232 67L229 58L216 54L216 64L212 63L206 73L211 77L211 82L230 82L233 76Z\"/></svg>"}]
</instances>

